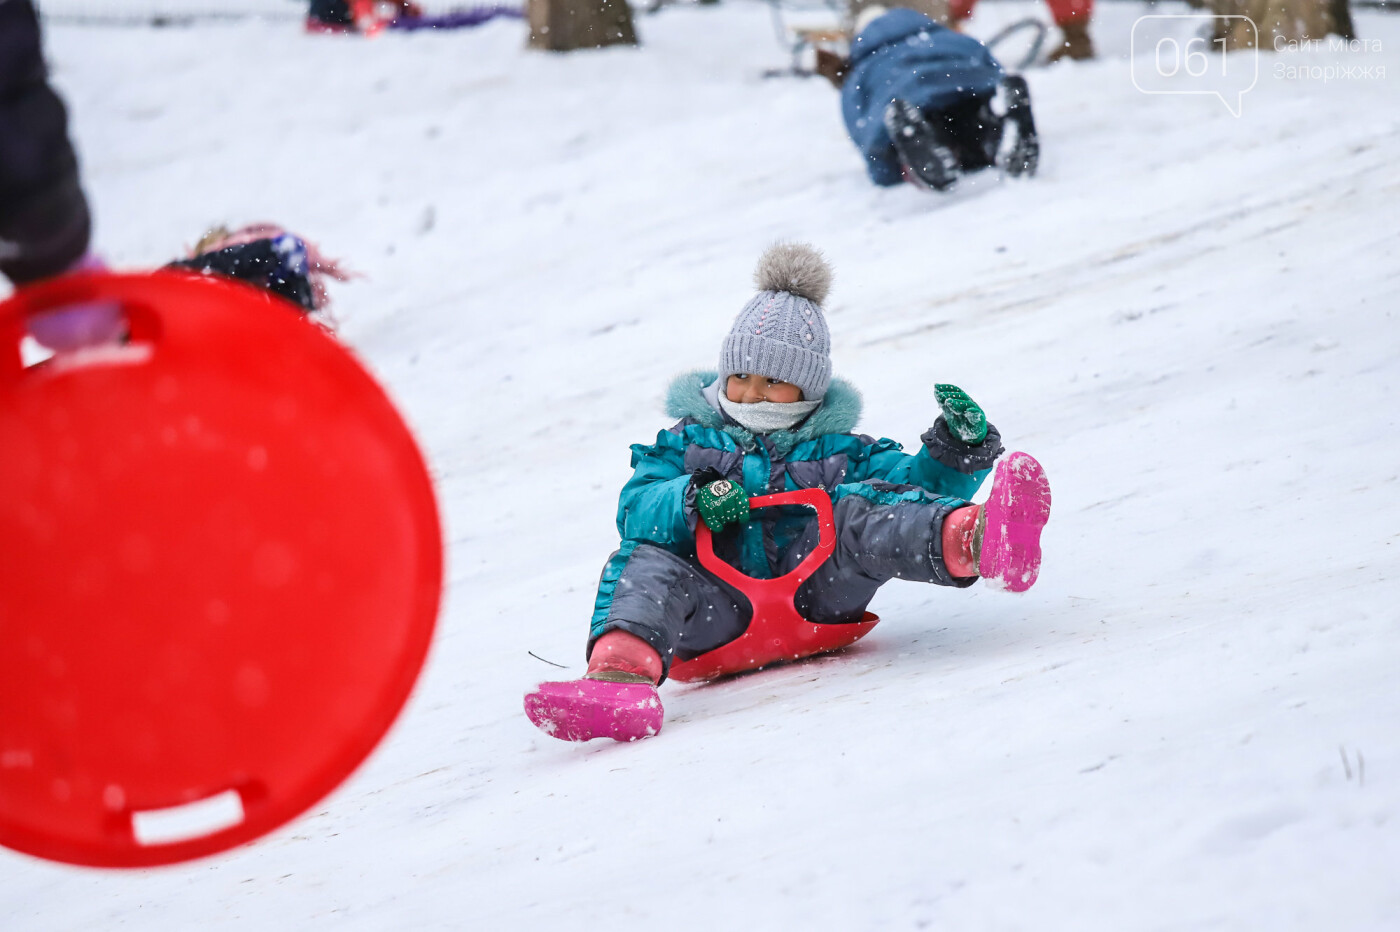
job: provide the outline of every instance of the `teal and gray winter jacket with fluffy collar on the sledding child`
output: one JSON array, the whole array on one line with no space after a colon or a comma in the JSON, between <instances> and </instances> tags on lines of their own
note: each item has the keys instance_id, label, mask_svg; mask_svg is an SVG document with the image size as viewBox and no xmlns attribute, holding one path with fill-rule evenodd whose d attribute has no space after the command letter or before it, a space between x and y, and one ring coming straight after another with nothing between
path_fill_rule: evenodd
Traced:
<instances>
[{"instance_id":1,"label":"teal and gray winter jacket with fluffy collar on the sledding child","mask_svg":"<svg viewBox=\"0 0 1400 932\"><path fill-rule=\"evenodd\" d=\"M983 444L972 446L952 437L942 417L924 434L914 455L902 452L892 439L853 434L861 397L839 378L832 379L822 406L795 428L755 435L701 395L715 379L715 372L689 372L675 379L666 411L680 421L661 431L655 444L631 448L634 472L617 504L623 546L603 571L602 596L609 595L609 571L616 581L637 543L654 543L683 557L694 554L690 474L706 466L742 484L749 495L825 488L833 502L844 495L865 495L882 504L966 501L1002 449L994 427L988 425ZM811 516L811 509L802 507L760 509L736 533L717 536L715 553L750 577L773 578L778 557Z\"/></svg>"}]
</instances>

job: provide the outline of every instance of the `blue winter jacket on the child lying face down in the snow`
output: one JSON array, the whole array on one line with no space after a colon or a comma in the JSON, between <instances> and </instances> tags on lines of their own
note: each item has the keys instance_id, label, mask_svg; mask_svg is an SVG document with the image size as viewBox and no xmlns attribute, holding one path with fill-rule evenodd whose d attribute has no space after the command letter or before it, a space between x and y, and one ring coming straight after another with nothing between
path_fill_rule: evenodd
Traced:
<instances>
[{"instance_id":1,"label":"blue winter jacket on the child lying face down in the snow","mask_svg":"<svg viewBox=\"0 0 1400 932\"><path fill-rule=\"evenodd\" d=\"M889 102L900 98L923 111L941 111L969 98L990 98L998 84L1001 64L981 42L923 13L890 10L851 43L841 116L851 141L865 155L871 181L897 185L899 160L885 132Z\"/></svg>"}]
</instances>

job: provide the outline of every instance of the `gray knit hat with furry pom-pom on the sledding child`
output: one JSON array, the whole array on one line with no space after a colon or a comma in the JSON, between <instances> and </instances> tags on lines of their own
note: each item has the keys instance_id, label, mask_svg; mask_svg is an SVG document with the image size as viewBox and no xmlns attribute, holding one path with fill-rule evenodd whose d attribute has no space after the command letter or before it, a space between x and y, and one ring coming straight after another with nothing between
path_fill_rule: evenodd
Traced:
<instances>
[{"instance_id":1,"label":"gray knit hat with furry pom-pom on the sledding child","mask_svg":"<svg viewBox=\"0 0 1400 932\"><path fill-rule=\"evenodd\" d=\"M832 334L822 301L832 267L806 243L769 246L753 270L759 294L743 306L720 348L720 386L735 372L783 379L818 402L832 381Z\"/></svg>"}]
</instances>

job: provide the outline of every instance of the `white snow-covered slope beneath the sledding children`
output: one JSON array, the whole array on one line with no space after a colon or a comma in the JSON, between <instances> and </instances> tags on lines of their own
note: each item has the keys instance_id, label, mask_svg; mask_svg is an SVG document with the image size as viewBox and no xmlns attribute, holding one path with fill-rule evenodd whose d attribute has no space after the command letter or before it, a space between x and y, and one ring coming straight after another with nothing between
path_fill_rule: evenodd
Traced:
<instances>
[{"instance_id":1,"label":"white snow-covered slope beneath the sledding children","mask_svg":"<svg viewBox=\"0 0 1400 932\"><path fill-rule=\"evenodd\" d=\"M311 814L161 870L0 852L0 926L1400 928L1400 18L1266 53L1235 119L1134 90L1145 10L1029 76L1037 179L945 199L872 188L829 87L759 77L756 4L571 56L518 22L53 24L116 264L277 218L367 274L343 334L420 432L451 588L399 725ZM1040 582L896 582L844 656L553 742L521 694L582 672L627 445L776 238L834 263L867 432L917 444L949 381L1042 459Z\"/></svg>"}]
</instances>

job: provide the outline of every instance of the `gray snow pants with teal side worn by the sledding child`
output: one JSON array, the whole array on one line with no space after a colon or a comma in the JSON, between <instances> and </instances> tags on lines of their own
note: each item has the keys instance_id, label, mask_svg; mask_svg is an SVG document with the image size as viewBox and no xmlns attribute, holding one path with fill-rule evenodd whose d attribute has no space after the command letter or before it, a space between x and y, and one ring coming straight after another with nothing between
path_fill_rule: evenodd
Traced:
<instances>
[{"instance_id":1,"label":"gray snow pants with teal side worn by the sledding child","mask_svg":"<svg viewBox=\"0 0 1400 932\"><path fill-rule=\"evenodd\" d=\"M976 578L951 575L942 550L944 518L966 504L937 498L885 505L846 495L833 508L836 553L798 589L797 610L819 624L840 624L860 621L875 591L890 579L970 586ZM774 575L795 568L816 542L812 518L778 557ZM718 543L715 549L721 551ZM655 648L669 670L672 659L689 661L735 640L752 617L748 599L699 560L629 542L603 570L588 652L609 631L627 631Z\"/></svg>"}]
</instances>

